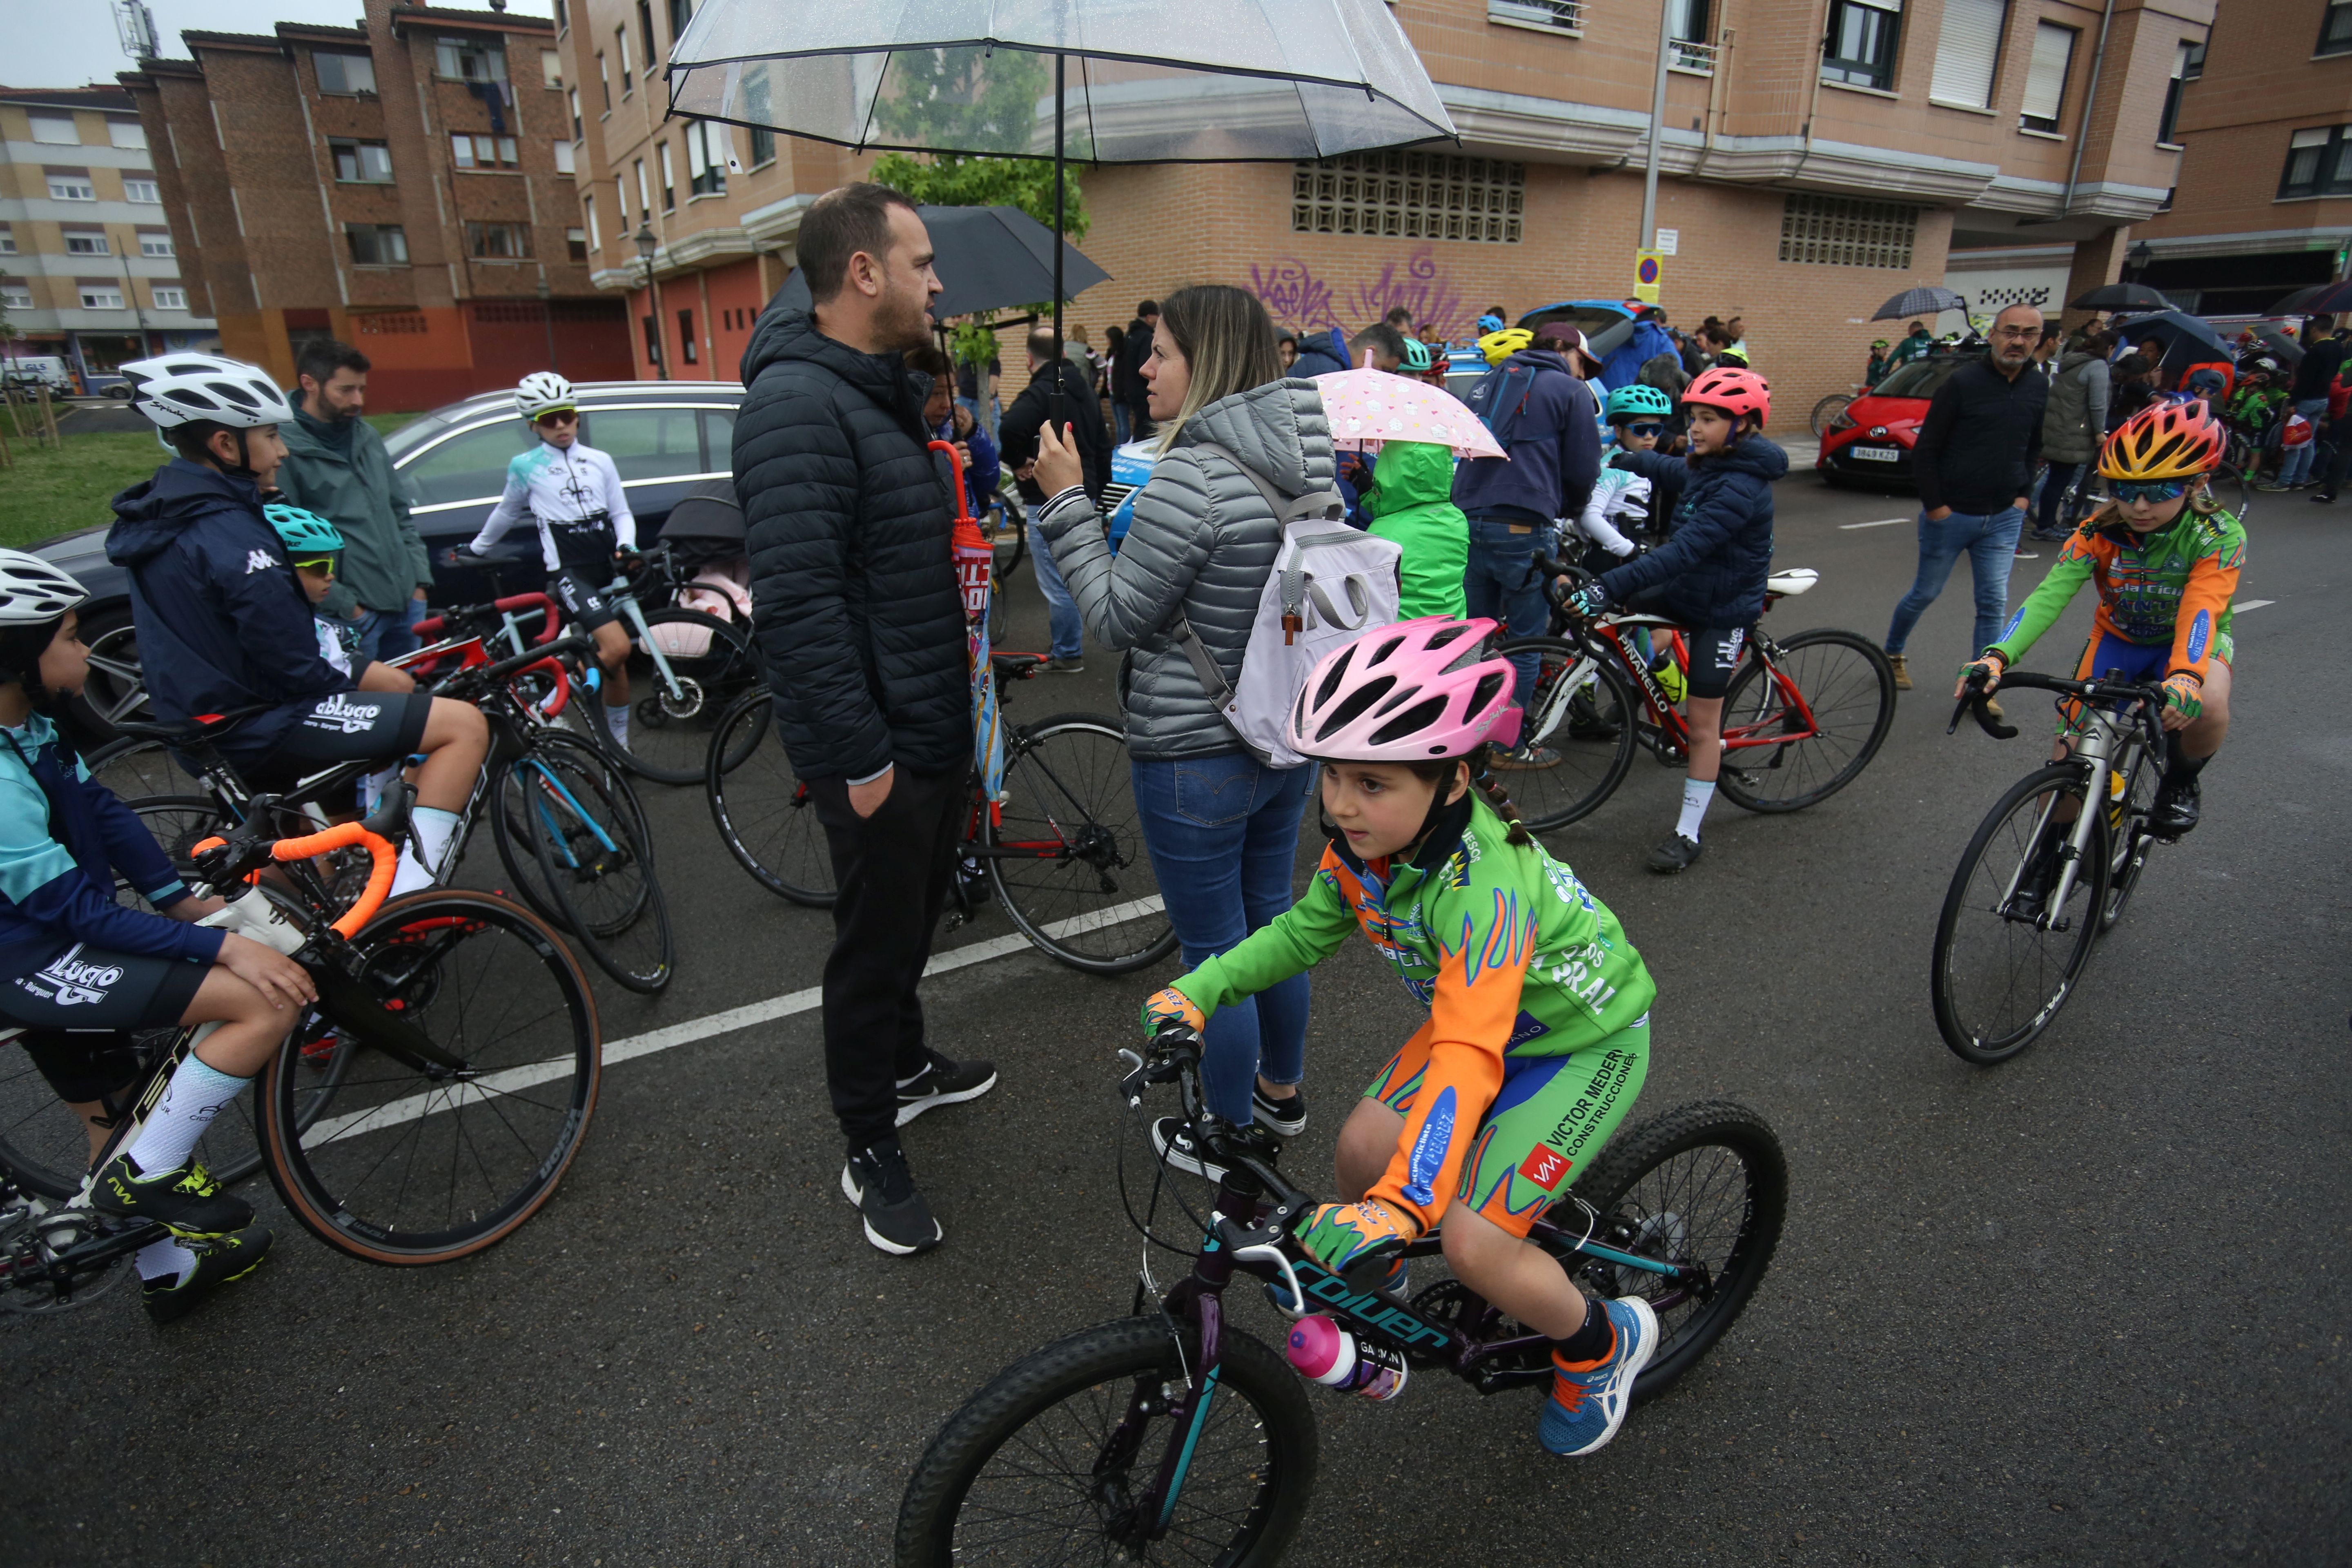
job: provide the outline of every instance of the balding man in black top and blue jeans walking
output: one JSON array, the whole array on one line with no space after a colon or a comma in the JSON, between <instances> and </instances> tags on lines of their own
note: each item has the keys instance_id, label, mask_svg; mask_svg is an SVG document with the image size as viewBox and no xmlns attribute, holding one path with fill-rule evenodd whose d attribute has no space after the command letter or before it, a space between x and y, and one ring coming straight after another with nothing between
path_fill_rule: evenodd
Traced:
<instances>
[{"instance_id":1,"label":"balding man in black top and blue jeans walking","mask_svg":"<svg viewBox=\"0 0 2352 1568\"><path fill-rule=\"evenodd\" d=\"M1952 371L1919 421L1919 440L1912 444L1919 576L1886 628L1886 658L1896 668L1896 686L1905 691L1910 668L1903 644L1943 592L1962 552L1976 578L1976 639L1969 646L1990 646L2002 635L2009 564L2025 524L2025 496L2042 463L2042 416L2051 395L2046 376L2025 374L2039 341L2042 313L2009 306L1992 317L1985 355Z\"/></svg>"}]
</instances>

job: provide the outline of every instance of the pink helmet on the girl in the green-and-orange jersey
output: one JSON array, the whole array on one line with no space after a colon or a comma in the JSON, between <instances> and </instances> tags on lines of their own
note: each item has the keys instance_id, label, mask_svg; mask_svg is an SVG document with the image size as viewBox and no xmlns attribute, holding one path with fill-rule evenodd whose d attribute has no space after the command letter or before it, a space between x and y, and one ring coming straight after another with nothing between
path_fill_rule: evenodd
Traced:
<instances>
[{"instance_id":1,"label":"pink helmet on the girl in the green-and-orange jersey","mask_svg":"<svg viewBox=\"0 0 2352 1568\"><path fill-rule=\"evenodd\" d=\"M1324 654L1291 708L1291 750L1324 762L1430 762L1515 745L1512 668L1494 621L1421 616Z\"/></svg>"}]
</instances>

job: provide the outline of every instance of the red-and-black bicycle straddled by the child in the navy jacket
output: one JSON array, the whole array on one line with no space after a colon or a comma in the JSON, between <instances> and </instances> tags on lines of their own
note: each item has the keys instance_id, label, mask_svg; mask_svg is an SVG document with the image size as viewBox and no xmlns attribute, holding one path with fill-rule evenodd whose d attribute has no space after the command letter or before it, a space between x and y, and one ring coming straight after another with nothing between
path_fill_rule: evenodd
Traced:
<instances>
[{"instance_id":1,"label":"red-and-black bicycle straddled by the child in the navy jacket","mask_svg":"<svg viewBox=\"0 0 2352 1568\"><path fill-rule=\"evenodd\" d=\"M1548 578L1590 581L1590 574L1536 557ZM1764 609L1809 592L1818 574L1776 571ZM1682 628L1663 616L1609 614L1581 623L1559 609L1557 583L1550 637L1515 637L1503 656L1534 654L1536 684L1526 703L1522 745L1555 762L1515 766L1505 783L1522 820L1548 832L1590 816L1632 769L1635 748L1661 766L1689 764L1691 731L1677 698L1639 654L1644 630L1689 670ZM1811 628L1776 639L1748 630L1740 668L1724 691L1724 769L1717 792L1748 811L1802 811L1844 790L1870 766L1896 717L1896 672L1879 644L1858 632Z\"/></svg>"}]
</instances>

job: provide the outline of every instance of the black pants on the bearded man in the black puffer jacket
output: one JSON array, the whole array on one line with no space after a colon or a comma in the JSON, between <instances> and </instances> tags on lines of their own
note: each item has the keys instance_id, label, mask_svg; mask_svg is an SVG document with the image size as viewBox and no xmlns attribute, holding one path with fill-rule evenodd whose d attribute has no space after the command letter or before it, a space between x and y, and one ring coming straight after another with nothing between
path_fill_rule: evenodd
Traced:
<instances>
[{"instance_id":1,"label":"black pants on the bearded man in the black puffer jacket","mask_svg":"<svg viewBox=\"0 0 2352 1568\"><path fill-rule=\"evenodd\" d=\"M811 778L809 799L840 889L826 959L826 1084L849 1147L863 1150L898 1128L898 1079L927 1060L915 985L948 903L969 773L901 766L889 799L863 818L842 778Z\"/></svg>"}]
</instances>

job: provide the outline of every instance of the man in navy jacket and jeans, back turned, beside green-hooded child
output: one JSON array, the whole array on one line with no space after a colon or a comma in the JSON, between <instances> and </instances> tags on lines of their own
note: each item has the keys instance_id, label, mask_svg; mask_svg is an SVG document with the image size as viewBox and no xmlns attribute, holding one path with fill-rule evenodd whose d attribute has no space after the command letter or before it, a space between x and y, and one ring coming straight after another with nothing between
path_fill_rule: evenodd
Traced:
<instances>
[{"instance_id":1,"label":"man in navy jacket and jeans, back turned, beside green-hooded child","mask_svg":"<svg viewBox=\"0 0 2352 1568\"><path fill-rule=\"evenodd\" d=\"M1592 388L1571 369L1571 355L1578 364L1590 364L1583 334L1566 322L1548 322L1534 348L1522 348L1486 371L1489 397L1512 402L1508 409L1482 409L1489 425L1508 435L1503 449L1510 456L1470 458L1454 470L1454 505L1470 520L1463 595L1472 616L1508 616L1512 637L1541 637L1550 630L1552 611L1543 602L1536 550L1550 548L1555 517L1583 515L1592 480L1602 473L1599 409ZM1519 703L1526 703L1536 686L1536 658L1515 663ZM1545 766L1545 757L1550 752L1529 741L1505 762Z\"/></svg>"}]
</instances>

